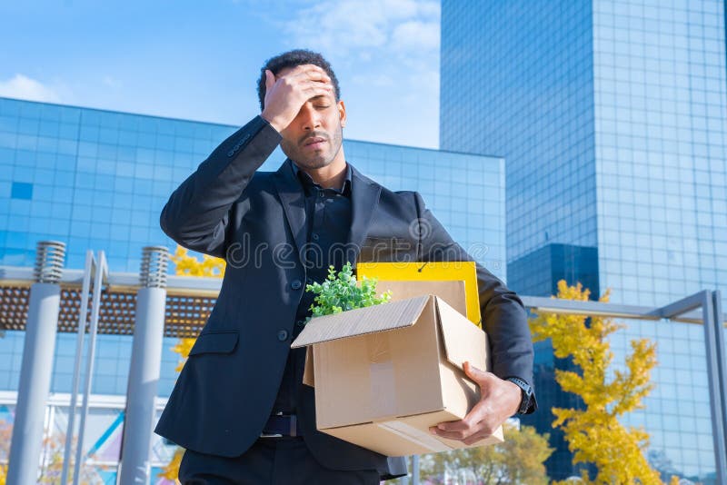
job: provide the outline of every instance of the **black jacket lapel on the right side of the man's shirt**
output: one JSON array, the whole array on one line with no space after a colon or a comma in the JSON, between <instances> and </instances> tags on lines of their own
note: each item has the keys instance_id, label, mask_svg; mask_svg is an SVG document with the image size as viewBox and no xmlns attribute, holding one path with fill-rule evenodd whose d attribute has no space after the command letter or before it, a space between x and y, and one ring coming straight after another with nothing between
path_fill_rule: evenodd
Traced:
<instances>
[{"instance_id":1,"label":"black jacket lapel on the right side of the man's shirt","mask_svg":"<svg viewBox=\"0 0 727 485\"><path fill-rule=\"evenodd\" d=\"M351 166L351 232L348 234L348 246L354 248L355 264L366 234L369 232L373 213L379 204L381 185Z\"/></svg>"}]
</instances>

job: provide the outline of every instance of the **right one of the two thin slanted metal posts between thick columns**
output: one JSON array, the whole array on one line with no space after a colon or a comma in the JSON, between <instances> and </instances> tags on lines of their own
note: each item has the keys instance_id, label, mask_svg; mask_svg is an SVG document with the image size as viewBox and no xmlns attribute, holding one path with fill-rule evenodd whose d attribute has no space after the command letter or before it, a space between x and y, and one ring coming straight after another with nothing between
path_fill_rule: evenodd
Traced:
<instances>
[{"instance_id":1,"label":"right one of the two thin slanted metal posts between thick columns","mask_svg":"<svg viewBox=\"0 0 727 485\"><path fill-rule=\"evenodd\" d=\"M104 279L107 276L106 255L103 251L98 252L98 259L94 274L94 294L91 302L91 322L89 323L88 355L86 356L84 401L81 405L81 421L78 426L78 442L75 448L74 485L81 480L81 466L84 462L84 435L85 418L88 415L88 399L91 394L91 382L94 375L94 360L96 351L96 330L98 329L98 312L101 306L101 290Z\"/></svg>"}]
</instances>

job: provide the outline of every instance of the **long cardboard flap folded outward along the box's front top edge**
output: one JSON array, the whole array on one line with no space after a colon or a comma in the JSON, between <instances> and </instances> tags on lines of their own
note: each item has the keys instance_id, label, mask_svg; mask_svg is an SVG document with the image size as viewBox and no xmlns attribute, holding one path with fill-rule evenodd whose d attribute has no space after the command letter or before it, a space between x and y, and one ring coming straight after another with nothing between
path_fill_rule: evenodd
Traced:
<instances>
[{"instance_id":1,"label":"long cardboard flap folded outward along the box's front top edge","mask_svg":"<svg viewBox=\"0 0 727 485\"><path fill-rule=\"evenodd\" d=\"M401 302L389 302L348 312L315 317L305 324L292 348L334 341L355 335L411 327L422 313L430 295Z\"/></svg>"}]
</instances>

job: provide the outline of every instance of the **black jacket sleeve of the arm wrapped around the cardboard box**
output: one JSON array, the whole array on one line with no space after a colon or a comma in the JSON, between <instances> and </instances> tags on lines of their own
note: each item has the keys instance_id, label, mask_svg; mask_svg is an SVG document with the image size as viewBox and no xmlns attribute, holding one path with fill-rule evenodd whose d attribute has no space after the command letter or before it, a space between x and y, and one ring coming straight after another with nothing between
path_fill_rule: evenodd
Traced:
<instances>
[{"instance_id":1,"label":"black jacket sleeve of the arm wrapped around the cardboard box","mask_svg":"<svg viewBox=\"0 0 727 485\"><path fill-rule=\"evenodd\" d=\"M419 213L421 261L474 261L425 207L419 193L415 193L415 203ZM476 267L480 312L483 330L490 341L492 371L501 379L519 377L533 387L533 340L523 302L492 272L479 263ZM535 409L533 395L528 413Z\"/></svg>"}]
</instances>

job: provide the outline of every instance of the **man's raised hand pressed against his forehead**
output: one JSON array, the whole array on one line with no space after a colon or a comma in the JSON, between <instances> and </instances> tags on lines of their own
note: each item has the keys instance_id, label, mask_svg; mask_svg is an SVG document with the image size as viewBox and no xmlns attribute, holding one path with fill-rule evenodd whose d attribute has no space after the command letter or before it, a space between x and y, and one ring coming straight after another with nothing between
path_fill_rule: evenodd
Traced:
<instances>
[{"instance_id":1,"label":"man's raised hand pressed against his forehead","mask_svg":"<svg viewBox=\"0 0 727 485\"><path fill-rule=\"evenodd\" d=\"M281 132L291 124L306 101L330 95L335 96L331 78L317 65L296 65L277 75L266 70L265 107L261 115Z\"/></svg>"}]
</instances>

